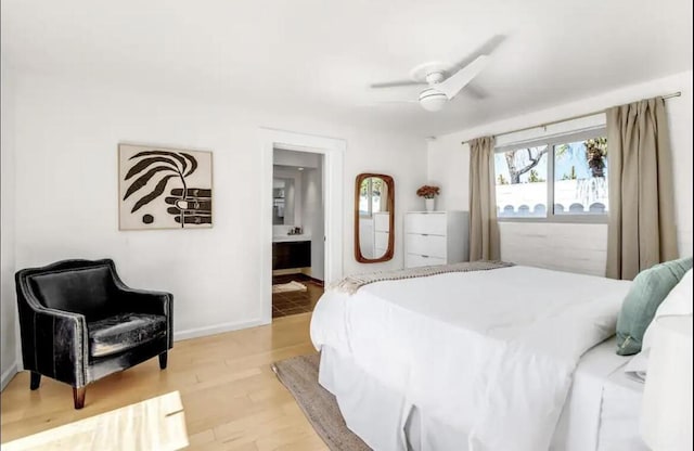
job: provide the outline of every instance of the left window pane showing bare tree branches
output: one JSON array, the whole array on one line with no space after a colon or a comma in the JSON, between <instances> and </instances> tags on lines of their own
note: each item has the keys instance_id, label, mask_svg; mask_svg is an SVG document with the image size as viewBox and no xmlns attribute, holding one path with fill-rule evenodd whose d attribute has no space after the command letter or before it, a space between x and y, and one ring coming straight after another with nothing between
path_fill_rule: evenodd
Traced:
<instances>
[{"instance_id":1,"label":"left window pane showing bare tree branches","mask_svg":"<svg viewBox=\"0 0 694 451\"><path fill-rule=\"evenodd\" d=\"M494 154L497 215L547 217L548 146Z\"/></svg>"}]
</instances>

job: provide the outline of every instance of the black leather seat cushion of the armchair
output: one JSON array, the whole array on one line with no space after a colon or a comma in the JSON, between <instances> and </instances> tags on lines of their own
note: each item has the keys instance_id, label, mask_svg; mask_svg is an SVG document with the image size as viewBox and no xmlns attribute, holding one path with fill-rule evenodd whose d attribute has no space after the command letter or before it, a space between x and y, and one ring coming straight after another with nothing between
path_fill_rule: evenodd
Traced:
<instances>
[{"instance_id":1,"label":"black leather seat cushion of the armchair","mask_svg":"<svg viewBox=\"0 0 694 451\"><path fill-rule=\"evenodd\" d=\"M89 356L106 357L123 352L166 335L166 317L118 313L88 322Z\"/></svg>"}]
</instances>

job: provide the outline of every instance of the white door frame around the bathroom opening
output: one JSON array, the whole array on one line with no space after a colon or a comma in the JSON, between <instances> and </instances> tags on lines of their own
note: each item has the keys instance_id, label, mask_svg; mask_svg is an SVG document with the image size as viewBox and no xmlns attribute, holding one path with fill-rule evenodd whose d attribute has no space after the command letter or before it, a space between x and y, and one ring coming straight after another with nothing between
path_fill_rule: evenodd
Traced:
<instances>
[{"instance_id":1,"label":"white door frame around the bathroom opening","mask_svg":"<svg viewBox=\"0 0 694 451\"><path fill-rule=\"evenodd\" d=\"M323 155L324 283L343 276L344 159L347 142L271 128L260 128L260 322L272 322L272 156L274 147Z\"/></svg>"}]
</instances>

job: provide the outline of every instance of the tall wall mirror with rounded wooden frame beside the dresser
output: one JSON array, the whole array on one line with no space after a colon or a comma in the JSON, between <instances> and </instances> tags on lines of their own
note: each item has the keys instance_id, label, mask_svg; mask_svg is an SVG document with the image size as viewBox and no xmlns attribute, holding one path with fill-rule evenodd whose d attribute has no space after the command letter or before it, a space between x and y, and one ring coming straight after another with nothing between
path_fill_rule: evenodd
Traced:
<instances>
[{"instance_id":1,"label":"tall wall mirror with rounded wooden frame beside the dresser","mask_svg":"<svg viewBox=\"0 0 694 451\"><path fill-rule=\"evenodd\" d=\"M355 188L355 258L377 263L393 258L395 182L383 173L360 173Z\"/></svg>"}]
</instances>

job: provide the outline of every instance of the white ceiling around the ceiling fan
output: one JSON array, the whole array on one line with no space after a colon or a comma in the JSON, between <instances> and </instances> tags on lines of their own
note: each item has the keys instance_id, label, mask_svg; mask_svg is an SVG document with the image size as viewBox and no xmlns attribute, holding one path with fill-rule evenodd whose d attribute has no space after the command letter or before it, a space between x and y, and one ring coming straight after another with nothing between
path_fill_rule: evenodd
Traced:
<instances>
[{"instance_id":1,"label":"white ceiling around the ceiling fan","mask_svg":"<svg viewBox=\"0 0 694 451\"><path fill-rule=\"evenodd\" d=\"M93 78L421 136L692 69L690 0L2 0L2 59ZM503 41L438 113L416 88L373 92L427 61Z\"/></svg>"}]
</instances>

